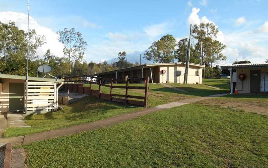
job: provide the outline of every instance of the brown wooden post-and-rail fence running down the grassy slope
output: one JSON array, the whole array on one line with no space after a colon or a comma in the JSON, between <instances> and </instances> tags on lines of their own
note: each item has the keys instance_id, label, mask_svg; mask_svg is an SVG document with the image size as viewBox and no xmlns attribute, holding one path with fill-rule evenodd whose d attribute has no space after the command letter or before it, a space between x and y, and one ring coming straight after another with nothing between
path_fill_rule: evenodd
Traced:
<instances>
[{"instance_id":1,"label":"brown wooden post-and-rail fence running down the grassy slope","mask_svg":"<svg viewBox=\"0 0 268 168\"><path fill-rule=\"evenodd\" d=\"M87 81L85 80L85 77L90 77L87 75L84 75L83 78L79 76L75 77L68 77L64 78L64 85L63 89L64 91L67 91L69 89L70 92L76 92L79 94L87 94L91 96L96 96L101 99L106 99L110 101L115 101L115 102L120 102L124 104L134 104L134 105L139 105L143 107L148 106L148 90L149 90L149 77L146 78L133 78L133 79L110 79L110 78L102 78L102 77L94 77L91 76L91 80ZM82 78L82 80L81 80ZM96 81L93 81L93 78L97 79ZM104 84L103 80L109 81L110 85ZM130 81L146 81L145 86L129 86ZM80 82L80 83L79 83ZM82 83L81 83L82 82ZM89 83L90 86L85 86L85 82ZM126 86L114 86L114 82L125 82ZM93 89L92 85L98 85L99 89ZM101 93L101 88L103 87L109 87L110 88L110 93ZM125 94L113 94L113 89L125 89ZM144 90L144 96L134 96L134 95L129 95L129 89L141 89ZM122 97L122 98L118 98ZM132 100L129 98L133 99L141 99L141 100Z\"/></svg>"}]
</instances>

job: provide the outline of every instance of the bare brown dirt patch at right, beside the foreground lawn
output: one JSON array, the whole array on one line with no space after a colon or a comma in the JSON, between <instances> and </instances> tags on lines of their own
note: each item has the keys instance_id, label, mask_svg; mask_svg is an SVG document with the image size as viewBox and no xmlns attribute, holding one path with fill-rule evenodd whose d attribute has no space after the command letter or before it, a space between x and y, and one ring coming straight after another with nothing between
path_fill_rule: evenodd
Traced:
<instances>
[{"instance_id":1,"label":"bare brown dirt patch at right, beside the foreground lawn","mask_svg":"<svg viewBox=\"0 0 268 168\"><path fill-rule=\"evenodd\" d=\"M236 100L236 99L205 99L199 101L198 104L217 105L226 108L242 109L246 112L254 112L258 114L268 115L268 102L260 100Z\"/></svg>"}]
</instances>

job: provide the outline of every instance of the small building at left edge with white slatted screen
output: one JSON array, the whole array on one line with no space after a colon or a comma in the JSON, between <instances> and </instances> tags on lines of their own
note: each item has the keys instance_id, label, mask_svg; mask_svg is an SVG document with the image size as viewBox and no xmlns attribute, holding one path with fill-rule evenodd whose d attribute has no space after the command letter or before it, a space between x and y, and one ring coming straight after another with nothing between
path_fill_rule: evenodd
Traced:
<instances>
[{"instance_id":1,"label":"small building at left edge with white slatted screen","mask_svg":"<svg viewBox=\"0 0 268 168\"><path fill-rule=\"evenodd\" d=\"M62 84L60 79L28 77L27 93L25 81L25 76L0 74L0 113L37 114L58 108L57 93Z\"/></svg>"}]
</instances>

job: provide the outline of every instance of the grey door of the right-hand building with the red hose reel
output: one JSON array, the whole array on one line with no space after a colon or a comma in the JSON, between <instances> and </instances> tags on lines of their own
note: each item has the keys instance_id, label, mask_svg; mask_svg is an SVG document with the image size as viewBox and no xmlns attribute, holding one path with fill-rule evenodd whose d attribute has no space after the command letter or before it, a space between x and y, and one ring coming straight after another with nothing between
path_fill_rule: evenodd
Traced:
<instances>
[{"instance_id":1,"label":"grey door of the right-hand building with the red hose reel","mask_svg":"<svg viewBox=\"0 0 268 168\"><path fill-rule=\"evenodd\" d=\"M261 70L250 70L250 93L261 92Z\"/></svg>"}]
</instances>

